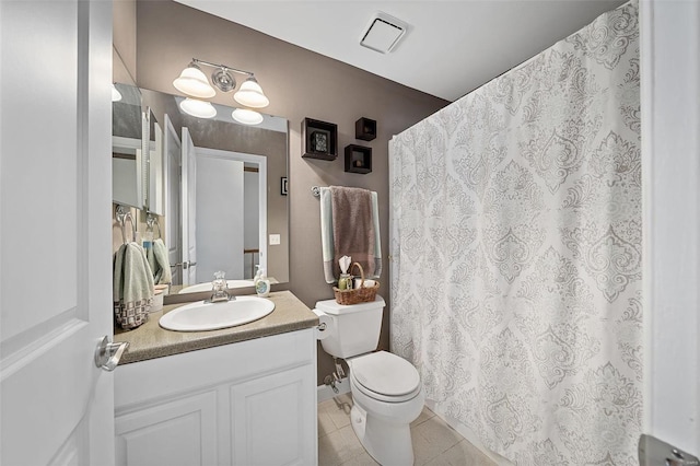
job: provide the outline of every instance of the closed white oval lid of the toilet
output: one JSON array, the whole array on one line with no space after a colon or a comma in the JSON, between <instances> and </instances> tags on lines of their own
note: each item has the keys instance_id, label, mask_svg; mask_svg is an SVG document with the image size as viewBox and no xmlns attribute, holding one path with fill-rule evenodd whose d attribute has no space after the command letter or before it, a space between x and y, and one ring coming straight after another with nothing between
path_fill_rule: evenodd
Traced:
<instances>
[{"instance_id":1,"label":"closed white oval lid of the toilet","mask_svg":"<svg viewBox=\"0 0 700 466\"><path fill-rule=\"evenodd\" d=\"M350 362L350 375L364 388L381 395L408 395L420 385L416 368L390 352L377 351Z\"/></svg>"}]
</instances>

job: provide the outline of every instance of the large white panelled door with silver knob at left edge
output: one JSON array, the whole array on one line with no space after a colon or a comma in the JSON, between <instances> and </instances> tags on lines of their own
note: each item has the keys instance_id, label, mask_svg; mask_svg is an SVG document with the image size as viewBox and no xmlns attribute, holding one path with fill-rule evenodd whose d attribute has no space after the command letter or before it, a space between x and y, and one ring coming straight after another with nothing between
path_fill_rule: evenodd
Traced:
<instances>
[{"instance_id":1,"label":"large white panelled door with silver knob at left edge","mask_svg":"<svg viewBox=\"0 0 700 466\"><path fill-rule=\"evenodd\" d=\"M0 463L114 464L112 3L2 1L0 32Z\"/></svg>"}]
</instances>

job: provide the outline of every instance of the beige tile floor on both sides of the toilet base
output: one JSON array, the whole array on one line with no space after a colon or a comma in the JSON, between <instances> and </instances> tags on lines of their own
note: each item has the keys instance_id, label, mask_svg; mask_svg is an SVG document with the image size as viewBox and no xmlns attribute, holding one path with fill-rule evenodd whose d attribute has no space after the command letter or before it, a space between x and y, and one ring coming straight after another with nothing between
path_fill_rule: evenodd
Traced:
<instances>
[{"instance_id":1,"label":"beige tile floor on both sides of the toilet base","mask_svg":"<svg viewBox=\"0 0 700 466\"><path fill-rule=\"evenodd\" d=\"M318 405L318 465L376 466L350 426L350 394ZM490 458L467 442L430 409L411 423L416 466L494 466ZM384 465L405 466L405 465Z\"/></svg>"}]
</instances>

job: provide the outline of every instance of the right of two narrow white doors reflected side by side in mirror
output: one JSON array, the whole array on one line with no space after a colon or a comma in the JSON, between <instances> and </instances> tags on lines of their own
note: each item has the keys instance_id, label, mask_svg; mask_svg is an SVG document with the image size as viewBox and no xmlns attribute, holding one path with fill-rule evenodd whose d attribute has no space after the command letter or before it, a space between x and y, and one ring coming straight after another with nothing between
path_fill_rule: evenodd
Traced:
<instances>
[{"instance_id":1,"label":"right of two narrow white doors reflected side by side in mirror","mask_svg":"<svg viewBox=\"0 0 700 466\"><path fill-rule=\"evenodd\" d=\"M197 154L189 130L183 128L183 284L197 283Z\"/></svg>"}]
</instances>

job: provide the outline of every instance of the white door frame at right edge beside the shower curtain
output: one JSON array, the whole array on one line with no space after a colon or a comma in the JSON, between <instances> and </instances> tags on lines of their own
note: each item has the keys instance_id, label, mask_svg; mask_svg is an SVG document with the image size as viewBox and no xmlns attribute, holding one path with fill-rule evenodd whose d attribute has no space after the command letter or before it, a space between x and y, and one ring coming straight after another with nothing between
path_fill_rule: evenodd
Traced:
<instances>
[{"instance_id":1,"label":"white door frame at right edge beside the shower curtain","mask_svg":"<svg viewBox=\"0 0 700 466\"><path fill-rule=\"evenodd\" d=\"M640 5L644 432L700 456L700 2Z\"/></svg>"}]
</instances>

